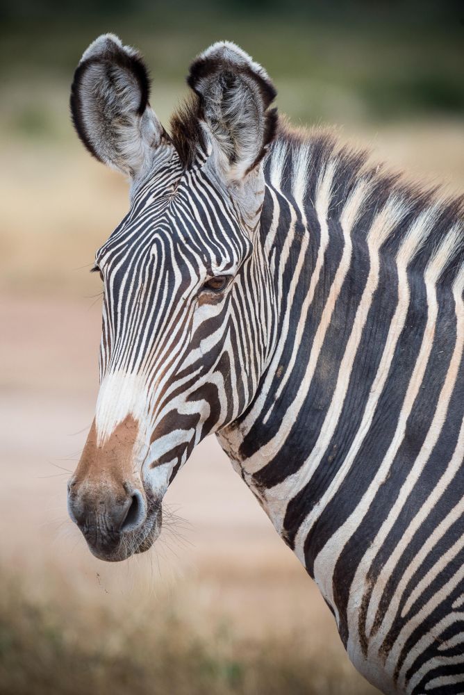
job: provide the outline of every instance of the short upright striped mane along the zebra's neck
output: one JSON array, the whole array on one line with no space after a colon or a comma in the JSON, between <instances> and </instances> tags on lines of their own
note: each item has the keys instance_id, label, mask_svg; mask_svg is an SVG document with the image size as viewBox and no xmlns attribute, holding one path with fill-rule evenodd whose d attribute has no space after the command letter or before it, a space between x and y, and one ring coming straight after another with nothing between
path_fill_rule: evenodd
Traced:
<instances>
[{"instance_id":1,"label":"short upright striped mane along the zebra's neck","mask_svg":"<svg viewBox=\"0 0 464 695\"><path fill-rule=\"evenodd\" d=\"M293 129L279 117L277 136L265 160L266 179L297 205L304 200L315 211L317 187L329 167L333 170L329 219L340 221L350 196L356 194L351 233L366 239L374 218L395 208L399 222L383 245L385 254L396 255L401 241L420 222L424 238L411 268L425 272L429 261L444 253L438 282L451 284L464 273L464 195L447 195L440 185L412 183L403 172L391 172L383 163L373 165L369 151L343 145L329 129Z\"/></svg>"}]
</instances>

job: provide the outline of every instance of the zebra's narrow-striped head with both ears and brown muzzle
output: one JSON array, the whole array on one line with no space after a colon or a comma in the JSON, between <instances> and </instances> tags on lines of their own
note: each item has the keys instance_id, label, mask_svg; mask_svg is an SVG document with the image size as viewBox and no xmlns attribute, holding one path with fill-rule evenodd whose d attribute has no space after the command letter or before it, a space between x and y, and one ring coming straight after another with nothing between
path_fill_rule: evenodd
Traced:
<instances>
[{"instance_id":1,"label":"zebra's narrow-striped head with both ears and brown muzzle","mask_svg":"<svg viewBox=\"0 0 464 695\"><path fill-rule=\"evenodd\" d=\"M104 286L97 409L69 513L94 555L147 550L194 445L254 398L272 350L274 288L260 239L275 90L229 42L192 63L171 135L137 51L103 35L72 85L87 149L129 176L131 207L98 250Z\"/></svg>"}]
</instances>

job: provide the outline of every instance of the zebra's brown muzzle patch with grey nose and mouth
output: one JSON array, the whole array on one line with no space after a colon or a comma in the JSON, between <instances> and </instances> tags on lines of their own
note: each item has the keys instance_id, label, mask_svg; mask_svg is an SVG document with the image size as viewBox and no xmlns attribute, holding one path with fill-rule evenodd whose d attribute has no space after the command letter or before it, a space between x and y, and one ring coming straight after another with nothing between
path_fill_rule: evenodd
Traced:
<instances>
[{"instance_id":1,"label":"zebra's brown muzzle patch with grey nose and mouth","mask_svg":"<svg viewBox=\"0 0 464 695\"><path fill-rule=\"evenodd\" d=\"M94 421L68 483L69 516L100 559L114 562L147 550L160 526L160 507L149 503L140 478L137 436L128 416L98 445Z\"/></svg>"}]
</instances>

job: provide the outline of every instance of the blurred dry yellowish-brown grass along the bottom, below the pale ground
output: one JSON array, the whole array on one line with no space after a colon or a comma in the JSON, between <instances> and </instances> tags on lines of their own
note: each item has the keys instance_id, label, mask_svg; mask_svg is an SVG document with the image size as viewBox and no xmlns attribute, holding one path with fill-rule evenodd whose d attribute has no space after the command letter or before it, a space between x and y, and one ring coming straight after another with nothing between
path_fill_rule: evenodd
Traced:
<instances>
[{"instance_id":1,"label":"blurred dry yellowish-brown grass along the bottom, below the pale ground","mask_svg":"<svg viewBox=\"0 0 464 695\"><path fill-rule=\"evenodd\" d=\"M51 573L53 575L53 573ZM69 589L69 587L68 587ZM185 599L184 599L185 600ZM17 582L0 594L2 695L292 695L374 693L337 659L330 642L317 651L303 632L257 639L217 617L186 621L164 598L117 611L78 598L26 598ZM138 610L137 610L138 608ZM324 639L324 635L320 635Z\"/></svg>"}]
</instances>

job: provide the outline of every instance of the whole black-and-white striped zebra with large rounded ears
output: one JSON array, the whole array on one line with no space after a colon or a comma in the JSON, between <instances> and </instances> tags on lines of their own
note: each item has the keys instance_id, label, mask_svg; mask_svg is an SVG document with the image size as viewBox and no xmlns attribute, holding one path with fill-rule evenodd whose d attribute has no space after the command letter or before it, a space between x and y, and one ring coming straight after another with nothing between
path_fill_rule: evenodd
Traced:
<instances>
[{"instance_id":1,"label":"whole black-and-white striped zebra with large rounded ears","mask_svg":"<svg viewBox=\"0 0 464 695\"><path fill-rule=\"evenodd\" d=\"M292 129L232 42L169 133L115 35L74 74L83 144L130 182L97 251L97 407L68 484L107 561L151 547L215 433L385 693L464 692L463 199Z\"/></svg>"}]
</instances>

